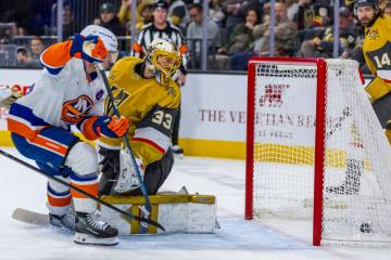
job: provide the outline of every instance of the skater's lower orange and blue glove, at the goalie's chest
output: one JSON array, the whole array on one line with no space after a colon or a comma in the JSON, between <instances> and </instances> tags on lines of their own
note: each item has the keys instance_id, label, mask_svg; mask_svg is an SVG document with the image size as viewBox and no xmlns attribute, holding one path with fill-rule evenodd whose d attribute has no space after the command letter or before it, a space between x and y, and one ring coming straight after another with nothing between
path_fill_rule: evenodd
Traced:
<instances>
[{"instance_id":1,"label":"skater's lower orange and blue glove, at the goalie's chest","mask_svg":"<svg viewBox=\"0 0 391 260\"><path fill-rule=\"evenodd\" d=\"M92 123L92 129L101 136L122 138L129 130L129 120L123 116L100 116Z\"/></svg>"}]
</instances>

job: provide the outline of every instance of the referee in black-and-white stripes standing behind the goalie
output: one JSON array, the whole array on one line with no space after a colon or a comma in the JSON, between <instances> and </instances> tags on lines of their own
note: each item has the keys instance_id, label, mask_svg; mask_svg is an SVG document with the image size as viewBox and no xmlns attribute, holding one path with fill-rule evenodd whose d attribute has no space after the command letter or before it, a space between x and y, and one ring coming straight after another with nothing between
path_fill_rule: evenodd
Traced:
<instances>
[{"instance_id":1,"label":"referee in black-and-white stripes standing behind the goalie","mask_svg":"<svg viewBox=\"0 0 391 260\"><path fill-rule=\"evenodd\" d=\"M188 61L188 48L184 41L184 37L179 28L175 27L167 21L168 3L164 0L156 0L153 3L153 22L147 24L138 34L137 41L133 46L133 56L143 58L148 47L156 38L169 38L179 48L181 54L182 64L180 67L181 75L176 79L179 86L186 83L186 64ZM184 150L178 145L179 133L179 120L180 120L180 107L175 118L172 142L173 153L178 156L182 156Z\"/></svg>"}]
</instances>

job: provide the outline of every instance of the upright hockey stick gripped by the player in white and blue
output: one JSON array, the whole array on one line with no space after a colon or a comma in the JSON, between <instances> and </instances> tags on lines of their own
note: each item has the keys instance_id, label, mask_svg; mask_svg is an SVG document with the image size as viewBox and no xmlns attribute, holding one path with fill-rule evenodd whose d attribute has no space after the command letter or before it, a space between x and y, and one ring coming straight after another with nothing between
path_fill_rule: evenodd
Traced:
<instances>
[{"instance_id":1,"label":"upright hockey stick gripped by the player in white and blue","mask_svg":"<svg viewBox=\"0 0 391 260\"><path fill-rule=\"evenodd\" d=\"M104 69L101 67L101 64L99 64L99 63L94 63L94 66L96 66L96 69L99 72L101 78L103 79L104 87L105 87L105 89L108 91L109 100L113 105L114 115L117 116L117 117L121 117L119 112L118 112L118 107L115 104L113 92L112 92L112 90L110 88L109 80L108 80L108 77L105 76ZM137 167L135 155L134 155L134 153L131 151L130 141L129 141L129 138L128 138L127 134L124 135L124 141L125 141L126 150L127 150L128 154L130 155L131 164L134 165L134 168L136 169L137 178L139 180L139 183L140 183L141 193L142 193L142 195L143 195L143 197L146 199L146 207L140 206L141 212L148 211L146 213L150 214L151 211L152 211L152 206L151 206L150 199L148 197L146 184L143 183L140 170Z\"/></svg>"}]
</instances>

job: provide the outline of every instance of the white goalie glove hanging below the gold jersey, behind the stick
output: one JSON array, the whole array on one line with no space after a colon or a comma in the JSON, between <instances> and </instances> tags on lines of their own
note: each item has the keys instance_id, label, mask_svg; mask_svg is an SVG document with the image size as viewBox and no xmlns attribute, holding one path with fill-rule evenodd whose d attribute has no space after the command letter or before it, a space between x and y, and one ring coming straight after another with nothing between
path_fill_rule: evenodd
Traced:
<instances>
[{"instance_id":1,"label":"white goalie glove hanging below the gold jersey, behind the stick","mask_svg":"<svg viewBox=\"0 0 391 260\"><path fill-rule=\"evenodd\" d=\"M140 187L140 182L138 179L137 170L135 167L138 168L141 179L143 178L144 167L142 165L141 159L136 159L136 166L131 164L130 155L127 151L121 151L119 154L119 174L117 183L114 186L114 191L116 193L127 193L131 192L138 187Z\"/></svg>"}]
</instances>

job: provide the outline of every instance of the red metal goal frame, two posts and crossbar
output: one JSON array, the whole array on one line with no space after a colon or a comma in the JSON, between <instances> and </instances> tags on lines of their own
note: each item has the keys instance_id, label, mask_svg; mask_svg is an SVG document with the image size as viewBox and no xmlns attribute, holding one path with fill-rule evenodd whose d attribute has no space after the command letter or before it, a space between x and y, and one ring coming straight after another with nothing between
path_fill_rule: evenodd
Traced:
<instances>
[{"instance_id":1,"label":"red metal goal frame, two posts and crossbar","mask_svg":"<svg viewBox=\"0 0 391 260\"><path fill-rule=\"evenodd\" d=\"M311 64L317 67L316 79L316 121L315 121L315 155L314 155L314 217L313 245L319 246L323 230L324 200L324 158L325 158L325 127L326 127L326 93L327 93L327 63L325 58L294 58L294 57L252 57L248 64L248 105L247 105L247 147L245 147L245 206L244 218L253 219L253 168L254 168L254 119L255 119L255 86L256 65L269 64Z\"/></svg>"}]
</instances>

